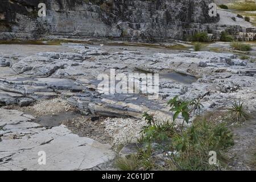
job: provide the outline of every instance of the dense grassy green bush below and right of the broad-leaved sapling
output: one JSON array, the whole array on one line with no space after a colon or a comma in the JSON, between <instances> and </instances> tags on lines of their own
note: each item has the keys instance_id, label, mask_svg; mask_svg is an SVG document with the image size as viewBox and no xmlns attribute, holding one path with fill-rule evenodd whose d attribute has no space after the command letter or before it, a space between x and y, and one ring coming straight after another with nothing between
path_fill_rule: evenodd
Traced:
<instances>
[{"instance_id":1,"label":"dense grassy green bush below and right of the broad-leaved sapling","mask_svg":"<svg viewBox=\"0 0 256 182\"><path fill-rule=\"evenodd\" d=\"M224 164L222 152L233 145L233 135L225 123L199 119L182 134L177 133L172 141L175 153L171 153L170 166L183 170L213 170L218 166L209 165L209 151L216 151L219 165Z\"/></svg>"}]
</instances>

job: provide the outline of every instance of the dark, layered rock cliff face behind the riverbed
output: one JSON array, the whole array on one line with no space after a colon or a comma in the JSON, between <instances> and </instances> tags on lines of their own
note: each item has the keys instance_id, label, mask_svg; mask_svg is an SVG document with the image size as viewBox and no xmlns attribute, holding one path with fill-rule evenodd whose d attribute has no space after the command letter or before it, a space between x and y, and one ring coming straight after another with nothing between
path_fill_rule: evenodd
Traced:
<instances>
[{"instance_id":1,"label":"dark, layered rock cliff face behind the riverbed","mask_svg":"<svg viewBox=\"0 0 256 182\"><path fill-rule=\"evenodd\" d=\"M218 34L211 23L220 19L219 15L208 15L212 0L1 1L2 40L36 39L44 34L132 41L185 40L197 31ZM46 17L38 17L40 2L46 3Z\"/></svg>"}]
</instances>

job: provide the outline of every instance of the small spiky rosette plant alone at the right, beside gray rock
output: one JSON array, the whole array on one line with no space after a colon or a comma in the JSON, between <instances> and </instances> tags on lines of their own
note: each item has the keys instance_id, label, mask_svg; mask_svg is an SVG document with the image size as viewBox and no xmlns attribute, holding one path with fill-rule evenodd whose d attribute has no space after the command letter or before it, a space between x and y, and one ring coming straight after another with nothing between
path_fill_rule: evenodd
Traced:
<instances>
[{"instance_id":1,"label":"small spiky rosette plant alone at the right, beside gray rock","mask_svg":"<svg viewBox=\"0 0 256 182\"><path fill-rule=\"evenodd\" d=\"M243 102L241 102L241 98L238 101L234 101L232 106L228 109L230 119L233 122L244 122L249 118L249 113L243 106Z\"/></svg>"}]
</instances>

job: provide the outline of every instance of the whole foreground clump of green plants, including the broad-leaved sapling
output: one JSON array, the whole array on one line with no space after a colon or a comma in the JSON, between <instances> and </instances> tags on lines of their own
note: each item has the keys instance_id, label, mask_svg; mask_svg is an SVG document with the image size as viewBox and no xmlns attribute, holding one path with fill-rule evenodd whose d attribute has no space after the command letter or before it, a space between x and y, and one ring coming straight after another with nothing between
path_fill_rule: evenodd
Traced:
<instances>
[{"instance_id":1,"label":"whole foreground clump of green plants, including the broad-leaved sapling","mask_svg":"<svg viewBox=\"0 0 256 182\"><path fill-rule=\"evenodd\" d=\"M174 122L179 114L183 121L188 122L189 116L200 113L201 107L199 100L183 101L177 96L168 105L174 113ZM233 134L225 123L197 115L191 126L178 130L174 122L156 121L153 115L147 113L143 114L143 118L147 126L143 128L142 137L138 140L138 146L142 147L138 148L135 156L118 159L115 164L119 169L216 170L220 166L224 167L222 154L234 144ZM166 157L158 158L155 155L159 154L158 151L166 154ZM210 151L216 152L218 165L209 164ZM161 160L164 166L159 163Z\"/></svg>"}]
</instances>

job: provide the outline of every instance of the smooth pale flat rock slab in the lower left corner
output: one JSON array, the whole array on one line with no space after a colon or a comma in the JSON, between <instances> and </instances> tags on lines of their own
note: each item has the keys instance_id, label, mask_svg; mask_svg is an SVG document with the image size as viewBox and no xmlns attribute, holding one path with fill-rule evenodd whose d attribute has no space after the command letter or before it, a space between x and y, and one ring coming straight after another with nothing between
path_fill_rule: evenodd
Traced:
<instances>
[{"instance_id":1,"label":"smooth pale flat rock slab in the lower left corner","mask_svg":"<svg viewBox=\"0 0 256 182\"><path fill-rule=\"evenodd\" d=\"M85 170L115 158L107 144L72 134L64 125L46 129L32 118L0 109L0 171ZM45 152L46 164L38 163L40 152Z\"/></svg>"}]
</instances>

